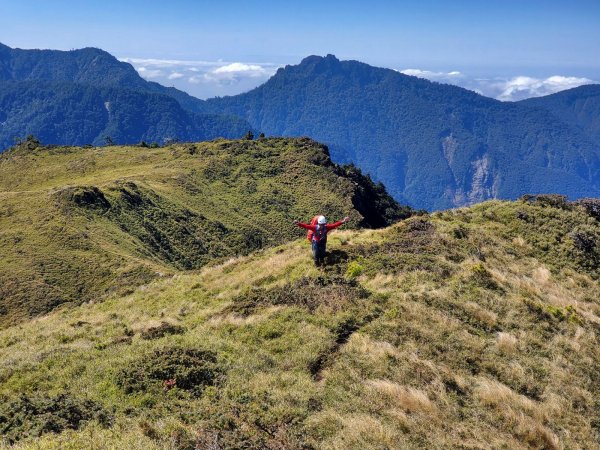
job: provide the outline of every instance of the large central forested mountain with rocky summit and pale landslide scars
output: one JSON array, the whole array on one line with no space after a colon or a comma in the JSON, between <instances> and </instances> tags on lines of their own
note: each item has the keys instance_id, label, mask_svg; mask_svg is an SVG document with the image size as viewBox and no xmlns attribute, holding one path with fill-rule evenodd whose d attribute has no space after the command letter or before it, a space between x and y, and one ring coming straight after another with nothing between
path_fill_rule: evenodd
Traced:
<instances>
[{"instance_id":1,"label":"large central forested mountain with rocky summit and pale landslide scars","mask_svg":"<svg viewBox=\"0 0 600 450\"><path fill-rule=\"evenodd\" d=\"M550 112L332 55L208 100L273 135L310 135L430 209L526 192L600 195L600 145Z\"/></svg>"}]
</instances>

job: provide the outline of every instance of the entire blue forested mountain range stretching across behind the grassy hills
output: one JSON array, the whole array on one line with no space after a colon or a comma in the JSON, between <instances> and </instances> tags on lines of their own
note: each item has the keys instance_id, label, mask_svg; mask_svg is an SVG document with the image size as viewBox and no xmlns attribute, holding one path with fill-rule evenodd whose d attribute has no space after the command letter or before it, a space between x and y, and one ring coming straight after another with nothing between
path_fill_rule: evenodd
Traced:
<instances>
[{"instance_id":1,"label":"entire blue forested mountain range stretching across behind the grassy hills","mask_svg":"<svg viewBox=\"0 0 600 450\"><path fill-rule=\"evenodd\" d=\"M440 209L523 193L600 196L597 86L518 103L332 55L245 94L195 99L93 48L0 45L0 149L16 136L85 145L310 136L401 202ZM210 115L203 115L210 114ZM237 119L236 117L240 117Z\"/></svg>"}]
</instances>

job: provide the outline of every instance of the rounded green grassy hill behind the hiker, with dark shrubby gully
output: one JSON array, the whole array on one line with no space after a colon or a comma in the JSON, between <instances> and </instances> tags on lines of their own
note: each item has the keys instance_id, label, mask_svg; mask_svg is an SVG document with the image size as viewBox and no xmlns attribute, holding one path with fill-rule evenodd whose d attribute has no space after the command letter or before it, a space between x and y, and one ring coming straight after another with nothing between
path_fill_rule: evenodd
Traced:
<instances>
[{"instance_id":1,"label":"rounded green grassy hill behind the hiker, with dark shrubby gully","mask_svg":"<svg viewBox=\"0 0 600 450\"><path fill-rule=\"evenodd\" d=\"M293 218L326 211L360 223L353 202L374 186L309 139L30 144L0 156L0 326L281 244L300 234Z\"/></svg>"}]
</instances>

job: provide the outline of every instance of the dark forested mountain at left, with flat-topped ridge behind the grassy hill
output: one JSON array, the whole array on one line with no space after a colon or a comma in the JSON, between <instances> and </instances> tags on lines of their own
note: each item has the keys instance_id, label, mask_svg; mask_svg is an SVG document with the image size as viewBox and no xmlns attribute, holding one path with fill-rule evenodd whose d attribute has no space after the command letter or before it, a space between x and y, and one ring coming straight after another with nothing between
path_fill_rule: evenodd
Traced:
<instances>
[{"instance_id":1,"label":"dark forested mountain at left, with flat-topped ridge behind the grassy hill","mask_svg":"<svg viewBox=\"0 0 600 450\"><path fill-rule=\"evenodd\" d=\"M237 117L194 112L196 103L143 80L102 50L0 44L0 151L28 134L49 144L98 145L107 138L129 144L235 138L251 128Z\"/></svg>"}]
</instances>

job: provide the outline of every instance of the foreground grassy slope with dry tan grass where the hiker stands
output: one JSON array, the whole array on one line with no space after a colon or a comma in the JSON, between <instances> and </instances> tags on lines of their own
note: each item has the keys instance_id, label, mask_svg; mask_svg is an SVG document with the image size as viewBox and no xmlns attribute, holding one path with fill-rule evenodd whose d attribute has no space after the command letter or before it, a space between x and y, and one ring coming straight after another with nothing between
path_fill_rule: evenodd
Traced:
<instances>
[{"instance_id":1,"label":"foreground grassy slope with dry tan grass where the hiker stands","mask_svg":"<svg viewBox=\"0 0 600 450\"><path fill-rule=\"evenodd\" d=\"M600 242L578 208L488 202L336 232L323 271L298 240L177 273L0 331L0 395L14 410L64 393L112 416L23 448L597 448L584 230ZM183 328L148 339L161 322ZM218 380L148 379L173 348L215 352ZM43 423L25 417L13 432Z\"/></svg>"}]
</instances>

